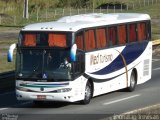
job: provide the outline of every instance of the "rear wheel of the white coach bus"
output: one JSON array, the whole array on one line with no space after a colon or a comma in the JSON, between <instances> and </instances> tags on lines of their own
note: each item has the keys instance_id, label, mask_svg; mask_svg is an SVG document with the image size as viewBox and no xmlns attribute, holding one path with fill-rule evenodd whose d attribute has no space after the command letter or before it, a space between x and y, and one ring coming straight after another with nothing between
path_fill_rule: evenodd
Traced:
<instances>
[{"instance_id":1,"label":"rear wheel of the white coach bus","mask_svg":"<svg viewBox=\"0 0 160 120\"><path fill-rule=\"evenodd\" d=\"M136 84L137 84L137 79L136 79L136 71L133 70L132 73L131 73L131 76L130 76L130 85L128 87L128 91L129 92L132 92L135 90L136 88Z\"/></svg>"}]
</instances>

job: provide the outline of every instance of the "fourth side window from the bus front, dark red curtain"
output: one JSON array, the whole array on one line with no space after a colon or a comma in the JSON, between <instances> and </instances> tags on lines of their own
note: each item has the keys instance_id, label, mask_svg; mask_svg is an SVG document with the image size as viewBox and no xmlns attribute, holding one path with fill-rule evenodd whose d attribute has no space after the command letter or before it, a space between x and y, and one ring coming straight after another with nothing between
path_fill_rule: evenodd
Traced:
<instances>
[{"instance_id":1,"label":"fourth side window from the bus front, dark red curtain","mask_svg":"<svg viewBox=\"0 0 160 120\"><path fill-rule=\"evenodd\" d=\"M108 38L110 45L116 45L117 44L117 32L116 27L109 27L108 29Z\"/></svg>"}]
</instances>

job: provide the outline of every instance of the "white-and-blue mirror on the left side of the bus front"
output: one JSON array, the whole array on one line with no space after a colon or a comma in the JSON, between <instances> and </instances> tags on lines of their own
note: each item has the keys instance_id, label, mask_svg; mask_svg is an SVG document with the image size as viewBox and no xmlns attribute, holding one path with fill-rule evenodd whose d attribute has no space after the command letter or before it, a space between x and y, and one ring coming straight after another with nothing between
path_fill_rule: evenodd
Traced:
<instances>
[{"instance_id":1,"label":"white-and-blue mirror on the left side of the bus front","mask_svg":"<svg viewBox=\"0 0 160 120\"><path fill-rule=\"evenodd\" d=\"M15 48L16 48L16 43L12 44L9 47L8 54L7 54L8 62L12 62L13 61L13 51L14 51Z\"/></svg>"}]
</instances>

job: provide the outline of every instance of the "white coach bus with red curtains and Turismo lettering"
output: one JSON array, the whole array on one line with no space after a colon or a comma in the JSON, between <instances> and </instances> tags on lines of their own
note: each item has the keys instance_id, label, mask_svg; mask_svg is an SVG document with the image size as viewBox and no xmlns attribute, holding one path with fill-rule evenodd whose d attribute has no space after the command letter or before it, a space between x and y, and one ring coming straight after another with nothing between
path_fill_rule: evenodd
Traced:
<instances>
[{"instance_id":1,"label":"white coach bus with red curtains and Turismo lettering","mask_svg":"<svg viewBox=\"0 0 160 120\"><path fill-rule=\"evenodd\" d=\"M16 48L18 100L88 104L151 79L151 19L138 13L92 13L22 28Z\"/></svg>"}]
</instances>

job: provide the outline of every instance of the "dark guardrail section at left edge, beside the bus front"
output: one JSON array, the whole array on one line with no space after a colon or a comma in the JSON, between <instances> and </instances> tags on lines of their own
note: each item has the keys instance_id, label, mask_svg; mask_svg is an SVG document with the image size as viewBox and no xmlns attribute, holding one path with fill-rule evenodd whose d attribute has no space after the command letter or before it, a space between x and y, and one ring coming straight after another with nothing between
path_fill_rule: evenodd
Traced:
<instances>
[{"instance_id":1,"label":"dark guardrail section at left edge, beside the bus front","mask_svg":"<svg viewBox=\"0 0 160 120\"><path fill-rule=\"evenodd\" d=\"M14 89L15 72L9 71L0 73L0 92L9 91Z\"/></svg>"}]
</instances>

